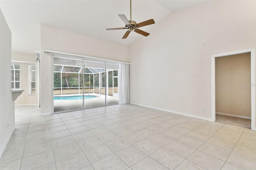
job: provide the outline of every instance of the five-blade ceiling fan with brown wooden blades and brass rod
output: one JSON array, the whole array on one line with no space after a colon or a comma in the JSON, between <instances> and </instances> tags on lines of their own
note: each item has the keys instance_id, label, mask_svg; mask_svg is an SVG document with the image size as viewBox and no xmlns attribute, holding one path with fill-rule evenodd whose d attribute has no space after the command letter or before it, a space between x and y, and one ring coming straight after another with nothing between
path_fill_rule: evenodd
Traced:
<instances>
[{"instance_id":1,"label":"five-blade ceiling fan with brown wooden blades and brass rod","mask_svg":"<svg viewBox=\"0 0 256 170\"><path fill-rule=\"evenodd\" d=\"M142 30L139 30L138 28L143 27L143 26L148 26L150 24L155 24L153 19L146 20L146 21L140 22L138 24L135 21L132 21L132 0L130 0L130 21L126 18L126 16L124 14L120 14L118 16L124 22L125 27L123 27L123 28L107 28L106 30L124 30L124 29L127 29L128 31L126 31L126 33L124 34L122 39L127 38L128 35L130 34L130 32L132 32L132 31L134 31L138 34L141 34L143 36L148 36L149 33L144 32Z\"/></svg>"}]
</instances>

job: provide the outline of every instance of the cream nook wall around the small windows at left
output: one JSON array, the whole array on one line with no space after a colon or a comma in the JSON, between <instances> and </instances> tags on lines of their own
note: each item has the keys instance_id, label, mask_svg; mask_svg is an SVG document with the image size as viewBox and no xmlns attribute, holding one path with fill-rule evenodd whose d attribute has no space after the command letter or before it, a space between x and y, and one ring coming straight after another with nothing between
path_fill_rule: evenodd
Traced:
<instances>
[{"instance_id":1,"label":"cream nook wall around the small windows at left","mask_svg":"<svg viewBox=\"0 0 256 170\"><path fill-rule=\"evenodd\" d=\"M25 53L12 53L12 61L20 63L20 89L26 89L15 101L15 105L37 105L38 89L35 95L28 95L28 65L36 64L36 55ZM36 69L37 70L37 69ZM37 87L36 73L36 87Z\"/></svg>"}]
</instances>

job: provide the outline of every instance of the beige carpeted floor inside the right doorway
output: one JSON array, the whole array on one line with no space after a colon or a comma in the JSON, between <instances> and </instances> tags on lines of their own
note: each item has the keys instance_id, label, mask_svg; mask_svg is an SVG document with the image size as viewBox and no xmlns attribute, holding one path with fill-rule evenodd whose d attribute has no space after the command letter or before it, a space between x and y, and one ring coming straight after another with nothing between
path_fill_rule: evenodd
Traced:
<instances>
[{"instance_id":1,"label":"beige carpeted floor inside the right doorway","mask_svg":"<svg viewBox=\"0 0 256 170\"><path fill-rule=\"evenodd\" d=\"M216 114L216 122L226 123L239 127L251 128L251 119L243 119L239 117L225 116Z\"/></svg>"}]
</instances>

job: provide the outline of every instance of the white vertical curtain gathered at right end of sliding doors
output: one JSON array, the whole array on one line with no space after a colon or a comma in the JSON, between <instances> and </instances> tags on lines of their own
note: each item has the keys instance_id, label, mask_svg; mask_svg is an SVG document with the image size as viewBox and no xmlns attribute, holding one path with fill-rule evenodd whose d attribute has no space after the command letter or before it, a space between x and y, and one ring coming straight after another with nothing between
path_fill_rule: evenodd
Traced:
<instances>
[{"instance_id":1,"label":"white vertical curtain gathered at right end of sliding doors","mask_svg":"<svg viewBox=\"0 0 256 170\"><path fill-rule=\"evenodd\" d=\"M130 99L130 65L119 63L119 73L118 73L118 96L119 104L128 104Z\"/></svg>"}]
</instances>

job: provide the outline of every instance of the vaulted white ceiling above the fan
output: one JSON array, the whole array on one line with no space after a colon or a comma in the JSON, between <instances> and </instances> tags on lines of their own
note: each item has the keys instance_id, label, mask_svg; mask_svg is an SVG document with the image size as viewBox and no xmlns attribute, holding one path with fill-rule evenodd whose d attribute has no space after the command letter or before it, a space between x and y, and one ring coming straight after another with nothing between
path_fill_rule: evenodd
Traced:
<instances>
[{"instance_id":1,"label":"vaulted white ceiling above the fan","mask_svg":"<svg viewBox=\"0 0 256 170\"><path fill-rule=\"evenodd\" d=\"M132 0L132 20L137 23L154 19L158 24L174 10L204 3L208 0ZM1 9L12 32L12 50L35 53L40 50L40 24L90 36L108 42L131 45L138 38L126 30L106 31L124 27L118 14L130 20L129 0L1 0ZM141 28L150 33L154 25Z\"/></svg>"}]
</instances>

